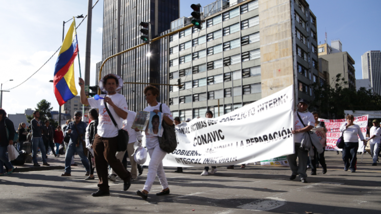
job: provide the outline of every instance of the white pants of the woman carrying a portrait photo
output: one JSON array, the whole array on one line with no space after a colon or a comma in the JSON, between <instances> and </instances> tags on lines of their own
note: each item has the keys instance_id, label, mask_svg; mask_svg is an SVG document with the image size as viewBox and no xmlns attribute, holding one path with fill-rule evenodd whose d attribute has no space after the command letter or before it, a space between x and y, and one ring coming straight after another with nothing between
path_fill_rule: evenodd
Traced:
<instances>
[{"instance_id":1,"label":"white pants of the woman carrying a portrait photo","mask_svg":"<svg viewBox=\"0 0 381 214\"><path fill-rule=\"evenodd\" d=\"M143 190L147 192L151 190L151 187L154 184L156 178L156 174L158 175L163 190L167 189L168 181L165 177L163 168L163 159L167 153L163 151L158 145L155 148L148 149L148 154L151 160L149 161L147 179L145 180Z\"/></svg>"}]
</instances>

